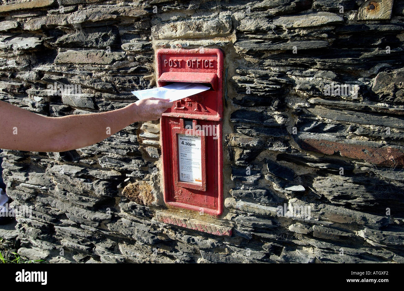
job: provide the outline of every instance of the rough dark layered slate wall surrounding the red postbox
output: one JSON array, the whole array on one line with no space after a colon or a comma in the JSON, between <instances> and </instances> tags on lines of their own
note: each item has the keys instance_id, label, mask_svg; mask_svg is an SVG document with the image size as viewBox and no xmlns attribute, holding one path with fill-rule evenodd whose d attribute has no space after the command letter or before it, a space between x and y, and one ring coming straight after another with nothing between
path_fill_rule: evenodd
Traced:
<instances>
[{"instance_id":1,"label":"rough dark layered slate wall surrounding the red postbox","mask_svg":"<svg viewBox=\"0 0 404 291\"><path fill-rule=\"evenodd\" d=\"M17 217L21 255L404 262L401 1L376 1L376 20L360 0L1 2L0 100L44 116L135 101L156 86L158 48L225 55L219 219L164 206L159 123L132 124L69 152L1 153L7 193L33 207ZM55 95L55 82L81 90ZM351 94L328 92L339 85Z\"/></svg>"}]
</instances>

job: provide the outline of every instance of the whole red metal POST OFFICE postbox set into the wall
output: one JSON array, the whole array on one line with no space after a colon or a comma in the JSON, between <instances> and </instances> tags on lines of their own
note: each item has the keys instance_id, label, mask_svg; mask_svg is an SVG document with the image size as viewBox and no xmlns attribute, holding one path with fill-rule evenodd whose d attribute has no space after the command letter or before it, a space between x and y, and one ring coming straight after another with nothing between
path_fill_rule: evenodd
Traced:
<instances>
[{"instance_id":1,"label":"whole red metal POST OFFICE postbox set into the wall","mask_svg":"<svg viewBox=\"0 0 404 291\"><path fill-rule=\"evenodd\" d=\"M223 212L223 54L219 49L160 49L157 83L203 83L209 90L174 101L160 119L164 202L170 208Z\"/></svg>"}]
</instances>

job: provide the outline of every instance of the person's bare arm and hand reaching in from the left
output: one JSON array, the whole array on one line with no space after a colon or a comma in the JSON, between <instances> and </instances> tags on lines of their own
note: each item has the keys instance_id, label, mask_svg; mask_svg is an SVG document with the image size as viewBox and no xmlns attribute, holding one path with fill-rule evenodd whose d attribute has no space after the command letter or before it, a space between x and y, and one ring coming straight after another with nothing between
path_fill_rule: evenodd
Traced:
<instances>
[{"instance_id":1,"label":"person's bare arm and hand reaching in from the left","mask_svg":"<svg viewBox=\"0 0 404 291\"><path fill-rule=\"evenodd\" d=\"M167 100L149 98L109 112L46 117L0 101L0 148L74 150L102 141L134 122L156 120L172 105Z\"/></svg>"}]
</instances>

